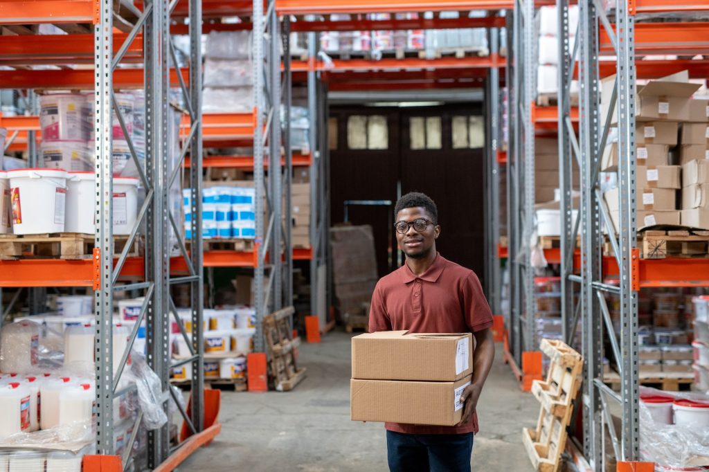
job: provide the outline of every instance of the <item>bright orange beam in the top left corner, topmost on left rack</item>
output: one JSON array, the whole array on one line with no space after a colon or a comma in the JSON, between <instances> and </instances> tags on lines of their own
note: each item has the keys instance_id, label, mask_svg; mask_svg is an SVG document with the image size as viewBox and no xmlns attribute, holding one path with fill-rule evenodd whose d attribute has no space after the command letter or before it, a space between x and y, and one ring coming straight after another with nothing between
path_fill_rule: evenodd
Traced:
<instances>
[{"instance_id":1,"label":"bright orange beam in the top left corner, topmost on left rack","mask_svg":"<svg viewBox=\"0 0 709 472\"><path fill-rule=\"evenodd\" d=\"M0 23L93 23L95 0L2 0Z\"/></svg>"}]
</instances>

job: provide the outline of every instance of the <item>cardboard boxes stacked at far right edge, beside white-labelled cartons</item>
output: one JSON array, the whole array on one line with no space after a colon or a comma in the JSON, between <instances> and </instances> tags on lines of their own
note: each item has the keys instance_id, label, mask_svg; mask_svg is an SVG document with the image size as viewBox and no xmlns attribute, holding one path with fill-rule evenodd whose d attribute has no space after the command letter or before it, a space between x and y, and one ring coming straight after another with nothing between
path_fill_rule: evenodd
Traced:
<instances>
[{"instance_id":1,"label":"cardboard boxes stacked at far right edge, beside white-labelled cartons","mask_svg":"<svg viewBox=\"0 0 709 472\"><path fill-rule=\"evenodd\" d=\"M690 110L692 120L703 121L682 125L681 221L685 226L709 229L709 102L693 100Z\"/></svg>"}]
</instances>

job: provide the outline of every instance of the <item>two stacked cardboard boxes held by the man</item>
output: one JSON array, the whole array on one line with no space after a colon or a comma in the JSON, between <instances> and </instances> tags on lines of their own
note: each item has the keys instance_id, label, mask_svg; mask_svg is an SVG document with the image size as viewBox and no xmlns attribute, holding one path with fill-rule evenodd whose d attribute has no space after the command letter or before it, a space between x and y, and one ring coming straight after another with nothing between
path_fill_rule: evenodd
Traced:
<instances>
[{"instance_id":1,"label":"two stacked cardboard boxes held by the man","mask_svg":"<svg viewBox=\"0 0 709 472\"><path fill-rule=\"evenodd\" d=\"M457 425L473 347L470 333L385 331L352 338L352 421Z\"/></svg>"}]
</instances>

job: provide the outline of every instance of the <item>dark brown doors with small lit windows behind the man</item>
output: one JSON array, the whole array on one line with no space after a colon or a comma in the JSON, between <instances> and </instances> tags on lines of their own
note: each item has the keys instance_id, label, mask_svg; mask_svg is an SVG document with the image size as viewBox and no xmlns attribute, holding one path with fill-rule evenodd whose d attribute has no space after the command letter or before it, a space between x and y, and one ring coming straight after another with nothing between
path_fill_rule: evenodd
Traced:
<instances>
[{"instance_id":1,"label":"dark brown doors with small lit windows behind the man","mask_svg":"<svg viewBox=\"0 0 709 472\"><path fill-rule=\"evenodd\" d=\"M484 122L481 104L466 106L333 106L330 109L331 218L347 200L389 200L409 191L438 206L437 249L484 276ZM336 133L335 133L336 130ZM336 136L336 137L335 137ZM400 193L401 192L401 193ZM374 228L380 276L396 268L389 211L349 209L354 224ZM389 264L390 250L393 261ZM481 280L482 281L482 280Z\"/></svg>"}]
</instances>

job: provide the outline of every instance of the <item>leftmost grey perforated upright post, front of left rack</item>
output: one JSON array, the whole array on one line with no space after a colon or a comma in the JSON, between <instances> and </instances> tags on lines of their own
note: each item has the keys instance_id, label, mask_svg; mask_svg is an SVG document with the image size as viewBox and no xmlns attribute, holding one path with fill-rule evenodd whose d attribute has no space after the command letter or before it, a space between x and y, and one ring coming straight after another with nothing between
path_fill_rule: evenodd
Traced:
<instances>
[{"instance_id":1,"label":"leftmost grey perforated upright post, front of left rack","mask_svg":"<svg viewBox=\"0 0 709 472\"><path fill-rule=\"evenodd\" d=\"M94 258L101 267L94 283L96 318L96 452L113 454L113 164L111 92L113 91L113 1L99 2L94 26L94 152L96 154L96 235Z\"/></svg>"}]
</instances>

